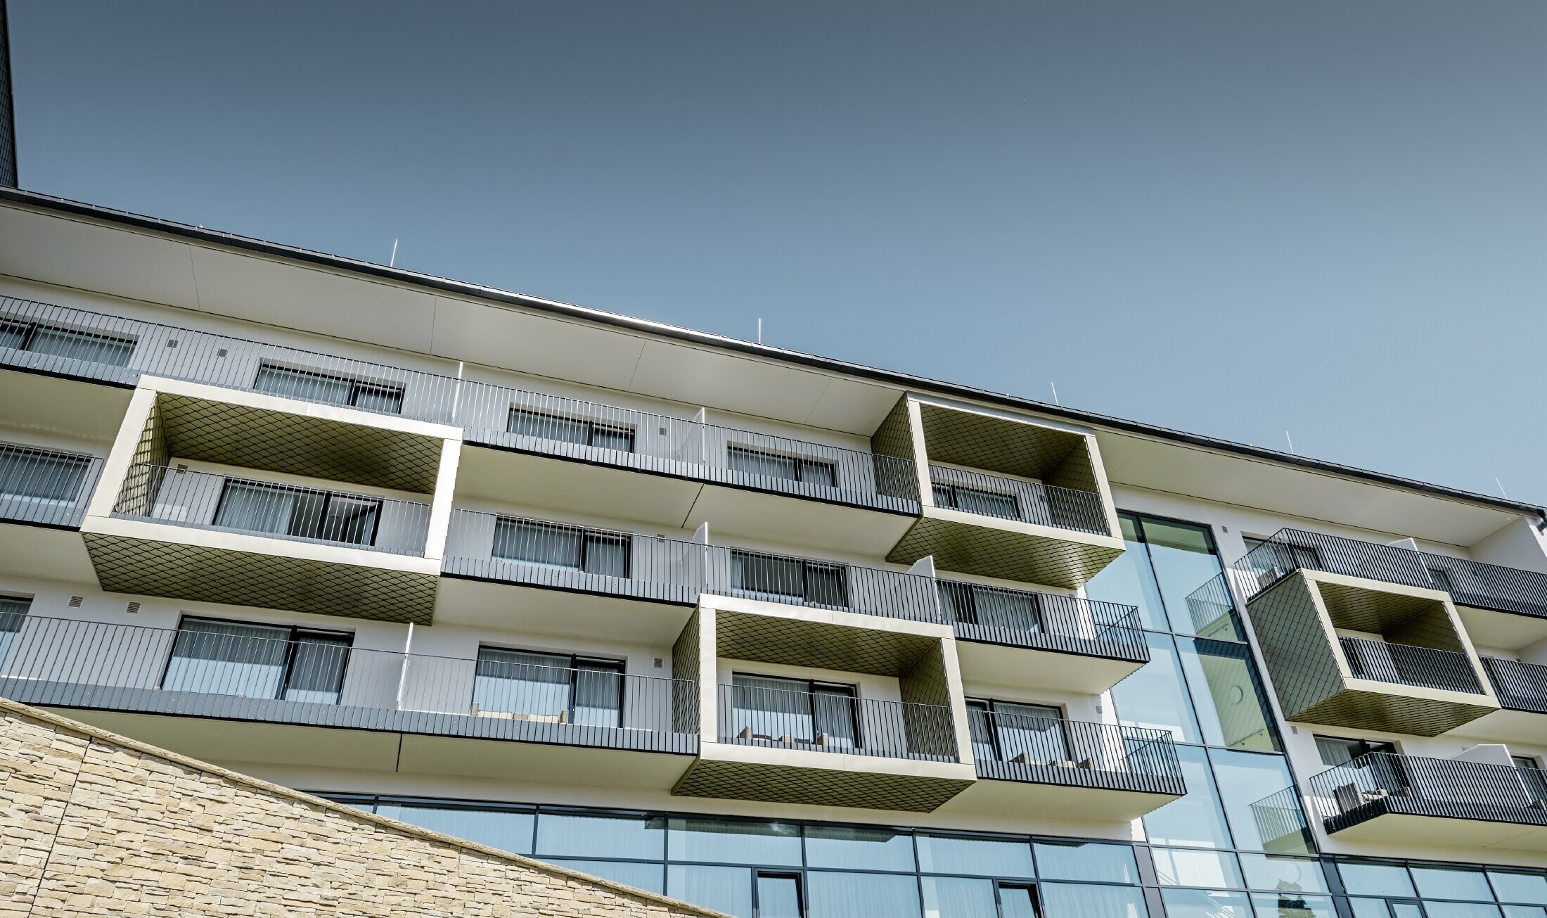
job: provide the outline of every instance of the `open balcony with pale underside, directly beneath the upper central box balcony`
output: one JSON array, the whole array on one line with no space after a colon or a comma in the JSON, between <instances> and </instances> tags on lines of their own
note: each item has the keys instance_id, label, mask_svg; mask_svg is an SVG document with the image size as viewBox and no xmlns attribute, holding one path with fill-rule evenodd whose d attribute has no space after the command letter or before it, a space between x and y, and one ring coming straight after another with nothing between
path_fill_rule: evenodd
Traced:
<instances>
[{"instance_id":1,"label":"open balcony with pale underside, directly beneath the upper central box balcony","mask_svg":"<svg viewBox=\"0 0 1547 918\"><path fill-rule=\"evenodd\" d=\"M979 681L1097 695L1149 661L1132 605L950 579L937 593Z\"/></svg>"}]
</instances>

